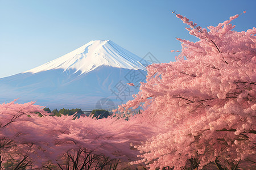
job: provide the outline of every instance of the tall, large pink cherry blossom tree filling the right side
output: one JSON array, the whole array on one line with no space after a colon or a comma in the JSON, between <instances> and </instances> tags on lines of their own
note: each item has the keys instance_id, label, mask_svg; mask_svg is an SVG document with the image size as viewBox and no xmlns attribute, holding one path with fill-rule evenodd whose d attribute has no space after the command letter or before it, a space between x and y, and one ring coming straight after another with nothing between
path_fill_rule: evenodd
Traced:
<instances>
[{"instance_id":1,"label":"tall, large pink cherry blossom tree filling the right side","mask_svg":"<svg viewBox=\"0 0 256 170\"><path fill-rule=\"evenodd\" d=\"M202 169L210 163L255 168L256 28L233 31L230 22L239 15L209 30L176 16L199 40L177 39L182 51L176 61L148 66L141 91L118 109L141 106L145 120L159 129L135 145L141 160L133 163L150 169Z\"/></svg>"}]
</instances>

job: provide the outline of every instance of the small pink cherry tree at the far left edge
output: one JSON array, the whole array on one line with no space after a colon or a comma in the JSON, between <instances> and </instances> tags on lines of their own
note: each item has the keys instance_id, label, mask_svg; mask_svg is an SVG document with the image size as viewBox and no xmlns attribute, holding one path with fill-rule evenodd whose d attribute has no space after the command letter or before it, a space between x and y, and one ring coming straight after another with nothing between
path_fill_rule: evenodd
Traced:
<instances>
[{"instance_id":1,"label":"small pink cherry tree at the far left edge","mask_svg":"<svg viewBox=\"0 0 256 170\"><path fill-rule=\"evenodd\" d=\"M1 168L3 168L3 166L15 166L16 168L27 167L31 164L31 159L28 158L28 155L34 154L34 151L32 151L32 143L23 143L22 140L17 140L23 133L18 130L22 127L16 124L28 120L28 114L41 111L42 109L32 102L23 105L15 104L14 102L15 101L0 105ZM27 129L22 130L24 132Z\"/></svg>"}]
</instances>

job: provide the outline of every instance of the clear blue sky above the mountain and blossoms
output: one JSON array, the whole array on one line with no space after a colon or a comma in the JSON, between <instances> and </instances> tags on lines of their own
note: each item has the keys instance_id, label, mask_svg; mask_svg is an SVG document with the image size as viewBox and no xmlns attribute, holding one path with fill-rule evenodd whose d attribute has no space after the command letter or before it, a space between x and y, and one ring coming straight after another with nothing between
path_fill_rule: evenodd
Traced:
<instances>
[{"instance_id":1,"label":"clear blue sky above the mountain and blossoms","mask_svg":"<svg viewBox=\"0 0 256 170\"><path fill-rule=\"evenodd\" d=\"M234 30L256 24L255 0L0 0L0 78L42 65L90 40L112 40L144 57L151 52L160 62L175 61L180 42L196 41L174 14L187 16L206 28L229 16Z\"/></svg>"}]
</instances>

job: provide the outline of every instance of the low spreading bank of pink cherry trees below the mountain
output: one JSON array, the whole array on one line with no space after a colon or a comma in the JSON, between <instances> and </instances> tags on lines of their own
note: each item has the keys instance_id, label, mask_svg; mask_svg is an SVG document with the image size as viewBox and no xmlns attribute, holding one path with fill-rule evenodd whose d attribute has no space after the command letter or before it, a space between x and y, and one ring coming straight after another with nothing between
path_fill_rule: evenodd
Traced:
<instances>
[{"instance_id":1,"label":"low spreading bank of pink cherry trees below the mountain","mask_svg":"<svg viewBox=\"0 0 256 170\"><path fill-rule=\"evenodd\" d=\"M4 103L0 105L0 169L101 169L138 160L139 152L130 144L146 141L150 131L140 118L130 120L74 120L49 116L34 102Z\"/></svg>"}]
</instances>

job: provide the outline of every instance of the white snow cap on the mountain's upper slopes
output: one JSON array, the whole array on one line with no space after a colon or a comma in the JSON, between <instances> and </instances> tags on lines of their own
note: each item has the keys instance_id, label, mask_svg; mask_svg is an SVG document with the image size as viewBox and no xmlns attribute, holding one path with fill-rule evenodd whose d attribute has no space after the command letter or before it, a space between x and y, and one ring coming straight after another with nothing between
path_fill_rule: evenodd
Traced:
<instances>
[{"instance_id":1,"label":"white snow cap on the mountain's upper slopes","mask_svg":"<svg viewBox=\"0 0 256 170\"><path fill-rule=\"evenodd\" d=\"M85 74L99 66L146 71L146 67L140 62L141 60L143 59L110 40L96 40L24 73L39 73L52 69L63 69L64 71L73 69L75 73L81 71L81 74Z\"/></svg>"}]
</instances>

